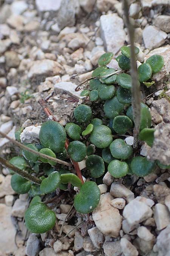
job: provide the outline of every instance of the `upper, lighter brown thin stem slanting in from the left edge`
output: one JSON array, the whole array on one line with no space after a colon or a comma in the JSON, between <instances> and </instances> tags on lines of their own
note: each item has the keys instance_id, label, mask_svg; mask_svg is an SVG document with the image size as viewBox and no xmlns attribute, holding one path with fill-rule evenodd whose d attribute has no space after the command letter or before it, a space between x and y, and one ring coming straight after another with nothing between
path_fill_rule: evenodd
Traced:
<instances>
[{"instance_id":1,"label":"upper, lighter brown thin stem slanting in from the left edge","mask_svg":"<svg viewBox=\"0 0 170 256\"><path fill-rule=\"evenodd\" d=\"M11 139L10 137L8 137L8 135L6 135L6 134L3 133L3 132L0 132L0 135L2 135L3 137L7 138L9 141L11 141L12 143L14 143L16 146L19 146L20 148L23 148L23 149L25 149L25 150L31 152L32 154L39 155L39 156L41 156L41 157L44 157L45 159L53 160L53 161L56 162L56 163L61 163L61 164L63 164L63 165L72 166L71 163L67 163L67 162L62 161L62 160L60 160L60 159L57 159L57 158L55 158L55 157L51 157L51 156L49 156L49 155L45 155L45 154L42 154L42 153L40 153L40 152L38 152L38 151L35 151L34 149L28 148L27 146L21 144L20 142L14 140L14 139Z\"/></svg>"}]
</instances>

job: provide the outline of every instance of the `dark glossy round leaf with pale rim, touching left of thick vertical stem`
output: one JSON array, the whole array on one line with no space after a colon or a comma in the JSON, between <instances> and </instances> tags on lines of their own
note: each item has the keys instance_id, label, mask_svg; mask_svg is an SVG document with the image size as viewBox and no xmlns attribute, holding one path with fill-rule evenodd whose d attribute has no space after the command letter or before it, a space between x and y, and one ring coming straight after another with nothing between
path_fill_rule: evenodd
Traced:
<instances>
[{"instance_id":1,"label":"dark glossy round leaf with pale rim, touching left of thick vertical stem","mask_svg":"<svg viewBox=\"0 0 170 256\"><path fill-rule=\"evenodd\" d=\"M133 127L133 123L128 116L116 116L113 119L113 130L118 134L125 134Z\"/></svg>"}]
</instances>

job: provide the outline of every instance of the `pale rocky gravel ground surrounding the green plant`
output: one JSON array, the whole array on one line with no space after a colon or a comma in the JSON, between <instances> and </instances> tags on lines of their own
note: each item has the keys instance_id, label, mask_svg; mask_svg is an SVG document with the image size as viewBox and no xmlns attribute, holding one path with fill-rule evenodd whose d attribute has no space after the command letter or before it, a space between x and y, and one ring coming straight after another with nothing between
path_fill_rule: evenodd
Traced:
<instances>
[{"instance_id":1,"label":"pale rocky gravel ground surrounding the green plant","mask_svg":"<svg viewBox=\"0 0 170 256\"><path fill-rule=\"evenodd\" d=\"M138 61L160 54L165 62L161 72L153 76L152 89L142 92L151 107L153 124L161 124L161 128L154 148L143 144L141 155L156 155L167 162L170 0L130 3L135 42L140 48ZM57 121L65 125L77 102L83 100L81 90L74 90L77 84L91 77L105 51L114 53L109 67L117 70L115 57L128 43L122 1L0 0L0 130L14 138L18 127L33 126L33 130L28 128L28 142L38 138L36 127L47 120L38 100L52 91L50 108ZM163 97L159 99L159 95ZM19 152L5 138L0 138L0 151L8 158ZM113 180L106 173L99 185L100 204L92 215L95 226L85 222L67 237L65 234L85 220L73 211L74 218L65 222L59 235L71 203L62 201L56 209L53 230L29 234L23 220L28 195L18 197L10 186L9 171L1 168L0 173L2 256L170 256L170 170L156 168L141 179L132 176Z\"/></svg>"}]
</instances>

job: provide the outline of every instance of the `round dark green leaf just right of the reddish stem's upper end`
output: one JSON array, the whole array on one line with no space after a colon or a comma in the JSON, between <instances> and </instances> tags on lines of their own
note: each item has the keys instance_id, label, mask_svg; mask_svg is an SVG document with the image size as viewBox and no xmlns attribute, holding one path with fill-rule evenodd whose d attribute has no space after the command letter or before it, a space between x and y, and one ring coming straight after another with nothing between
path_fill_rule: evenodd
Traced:
<instances>
[{"instance_id":1,"label":"round dark green leaf just right of the reddish stem's upper end","mask_svg":"<svg viewBox=\"0 0 170 256\"><path fill-rule=\"evenodd\" d=\"M76 118L77 122L80 123L87 123L90 121L92 116L91 108L85 104L78 105L74 109L74 117Z\"/></svg>"}]
</instances>

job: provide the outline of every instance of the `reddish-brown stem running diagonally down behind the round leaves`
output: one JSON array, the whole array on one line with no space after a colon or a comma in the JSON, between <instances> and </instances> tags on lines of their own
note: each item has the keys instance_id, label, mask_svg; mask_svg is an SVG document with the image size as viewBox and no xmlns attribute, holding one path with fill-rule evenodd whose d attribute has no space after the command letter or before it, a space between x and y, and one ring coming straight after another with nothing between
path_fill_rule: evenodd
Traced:
<instances>
[{"instance_id":1,"label":"reddish-brown stem running diagonally down behind the round leaves","mask_svg":"<svg viewBox=\"0 0 170 256\"><path fill-rule=\"evenodd\" d=\"M43 107L43 110L44 112L46 113L46 115L49 117L49 116L52 116L53 117L53 120L57 122L56 118L53 116L53 113L51 113L51 111L49 110L48 107L46 107L46 102L42 99L39 101L39 104ZM65 148L68 149L68 145L69 145L69 141L68 139L66 138L66 143L65 143ZM80 167L79 167L79 164L77 162L73 162L73 165L74 165L74 168L76 170L76 174L77 176L79 177L79 179L82 181L82 184L84 183L83 181L83 177L82 177L82 173L80 171Z\"/></svg>"}]
</instances>

